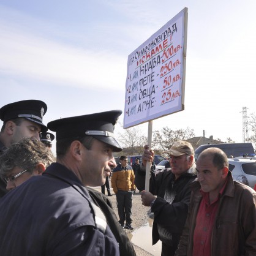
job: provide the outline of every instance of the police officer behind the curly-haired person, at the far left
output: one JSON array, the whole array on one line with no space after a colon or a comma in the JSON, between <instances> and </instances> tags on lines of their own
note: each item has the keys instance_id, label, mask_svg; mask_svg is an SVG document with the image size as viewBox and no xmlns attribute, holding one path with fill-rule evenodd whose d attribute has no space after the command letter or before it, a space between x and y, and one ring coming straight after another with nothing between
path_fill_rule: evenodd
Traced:
<instances>
[{"instance_id":1,"label":"police officer behind the curly-haired person, at the far left","mask_svg":"<svg viewBox=\"0 0 256 256\"><path fill-rule=\"evenodd\" d=\"M0 119L3 121L0 131L0 154L21 138L36 138L40 132L46 132L43 115L47 105L41 100L21 100L0 108ZM0 178L0 198L7 193L6 183Z\"/></svg>"}]
</instances>

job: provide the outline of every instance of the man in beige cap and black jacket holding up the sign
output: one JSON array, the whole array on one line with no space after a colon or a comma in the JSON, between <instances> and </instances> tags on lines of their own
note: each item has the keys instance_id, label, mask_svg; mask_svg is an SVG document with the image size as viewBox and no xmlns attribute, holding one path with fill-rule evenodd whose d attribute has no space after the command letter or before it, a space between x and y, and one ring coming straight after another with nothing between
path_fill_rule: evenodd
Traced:
<instances>
[{"instance_id":1,"label":"man in beige cap and black jacket holding up the sign","mask_svg":"<svg viewBox=\"0 0 256 256\"><path fill-rule=\"evenodd\" d=\"M187 141L176 141L167 152L171 168L166 168L156 177L151 176L149 191L141 192L141 201L154 213L152 244L162 241L162 256L174 255L187 218L190 199L190 183L197 177L194 164L194 149ZM152 162L154 151L142 155L141 169ZM155 197L157 195L157 197Z\"/></svg>"}]
</instances>

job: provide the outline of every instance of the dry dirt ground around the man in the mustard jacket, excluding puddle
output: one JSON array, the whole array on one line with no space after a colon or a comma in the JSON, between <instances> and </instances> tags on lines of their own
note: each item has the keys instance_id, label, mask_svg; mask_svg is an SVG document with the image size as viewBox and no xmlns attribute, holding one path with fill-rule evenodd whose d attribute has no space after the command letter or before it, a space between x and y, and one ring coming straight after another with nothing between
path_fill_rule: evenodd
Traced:
<instances>
[{"instance_id":1,"label":"dry dirt ground around the man in the mustard jacket, excluding puddle","mask_svg":"<svg viewBox=\"0 0 256 256\"><path fill-rule=\"evenodd\" d=\"M111 183L110 183L110 187L111 187ZM97 187L97 188L94 187L94 189L101 192L100 187ZM116 196L113 190L112 189L110 190L113 197L108 197L108 198L111 200L113 209L116 213L116 216L118 217L118 209L116 206ZM107 189L105 189L105 194L107 195ZM133 220L132 227L134 227L134 230L146 224L148 220L148 210L149 210L149 207L145 207L141 204L140 193L137 190L137 192L133 195L133 199L132 199L132 220ZM134 232L134 230L126 230L127 235L129 236L129 233ZM152 256L152 254L149 254L149 252L146 252L140 247L135 246L135 244L134 244L134 249L137 256Z\"/></svg>"}]
</instances>

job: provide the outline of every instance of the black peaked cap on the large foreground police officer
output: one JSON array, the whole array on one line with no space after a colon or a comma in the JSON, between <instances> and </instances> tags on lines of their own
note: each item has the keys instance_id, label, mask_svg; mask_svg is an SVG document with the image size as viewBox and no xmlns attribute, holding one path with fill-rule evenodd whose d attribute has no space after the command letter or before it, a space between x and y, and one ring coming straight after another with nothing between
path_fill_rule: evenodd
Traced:
<instances>
[{"instance_id":1,"label":"black peaked cap on the large foreground police officer","mask_svg":"<svg viewBox=\"0 0 256 256\"><path fill-rule=\"evenodd\" d=\"M121 115L121 110L105 111L91 115L73 116L48 122L48 128L56 132L56 140L62 138L91 136L110 146L114 151L122 151L114 137L116 121Z\"/></svg>"}]
</instances>

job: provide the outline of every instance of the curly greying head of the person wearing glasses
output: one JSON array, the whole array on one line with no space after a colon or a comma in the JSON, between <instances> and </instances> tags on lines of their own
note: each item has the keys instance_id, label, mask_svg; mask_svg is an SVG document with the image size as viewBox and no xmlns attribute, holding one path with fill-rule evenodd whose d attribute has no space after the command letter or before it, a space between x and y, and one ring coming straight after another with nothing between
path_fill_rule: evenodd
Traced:
<instances>
[{"instance_id":1,"label":"curly greying head of the person wearing glasses","mask_svg":"<svg viewBox=\"0 0 256 256\"><path fill-rule=\"evenodd\" d=\"M20 186L34 175L42 175L55 157L43 143L35 138L23 138L10 145L0 156L1 176L6 189Z\"/></svg>"}]
</instances>

